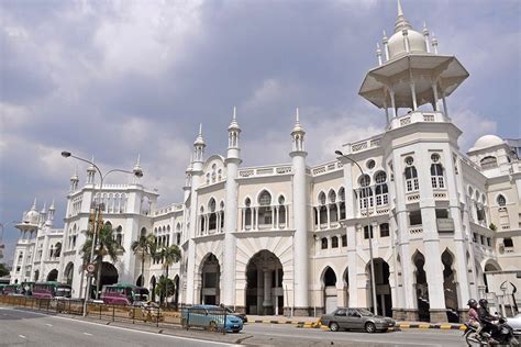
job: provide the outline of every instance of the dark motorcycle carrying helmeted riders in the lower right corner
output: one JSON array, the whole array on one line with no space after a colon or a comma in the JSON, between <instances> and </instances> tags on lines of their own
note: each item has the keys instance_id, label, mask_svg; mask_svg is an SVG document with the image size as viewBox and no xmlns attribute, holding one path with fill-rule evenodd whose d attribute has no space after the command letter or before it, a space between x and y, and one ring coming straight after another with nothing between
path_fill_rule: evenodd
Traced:
<instances>
[{"instance_id":1,"label":"dark motorcycle carrying helmeted riders in the lower right corner","mask_svg":"<svg viewBox=\"0 0 521 347\"><path fill-rule=\"evenodd\" d=\"M496 313L497 314L497 313ZM518 339L513 335L513 329L507 324L507 320L499 315L497 325L497 332L490 335L481 329L480 333L477 329L465 323L465 342L467 346L519 346Z\"/></svg>"}]
</instances>

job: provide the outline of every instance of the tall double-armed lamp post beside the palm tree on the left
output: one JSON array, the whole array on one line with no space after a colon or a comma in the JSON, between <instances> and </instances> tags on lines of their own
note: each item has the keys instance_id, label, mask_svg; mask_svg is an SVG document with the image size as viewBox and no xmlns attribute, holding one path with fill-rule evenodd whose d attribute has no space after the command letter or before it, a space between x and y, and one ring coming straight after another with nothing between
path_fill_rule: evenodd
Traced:
<instances>
[{"instance_id":1,"label":"tall double-armed lamp post beside the palm tree on the left","mask_svg":"<svg viewBox=\"0 0 521 347\"><path fill-rule=\"evenodd\" d=\"M90 258L89 258L90 261L93 261L95 248L96 248L96 245L97 245L97 235L98 235L98 222L99 222L98 220L100 217L101 208L102 208L102 204L101 204L101 190L103 188L104 178L111 172L132 174L135 177L141 178L141 177L143 177L143 171L141 170L141 168L136 168L133 171L128 171L128 170L122 170L122 169L112 169L112 170L107 171L103 175L101 172L101 169L96 164L93 164L91 160L77 157L77 156L73 155L70 152L66 152L66 150L62 152L62 156L64 158L71 157L71 158L75 158L77 160L90 164L92 167L96 168L96 170L98 171L98 174L100 176L100 186L98 188L98 200L99 201L98 201L98 203L95 203L95 223L93 223L92 247L90 248ZM95 184L95 187L96 187L96 184ZM96 198L96 194L95 194L95 198ZM99 266L101 266L101 264ZM92 275L87 273L87 290L85 292L85 300L84 300L84 316L87 315L87 299L88 299L88 295L90 295L90 287L92 286L91 284L92 277L93 277ZM98 299L98 291L96 291L96 299Z\"/></svg>"}]
</instances>

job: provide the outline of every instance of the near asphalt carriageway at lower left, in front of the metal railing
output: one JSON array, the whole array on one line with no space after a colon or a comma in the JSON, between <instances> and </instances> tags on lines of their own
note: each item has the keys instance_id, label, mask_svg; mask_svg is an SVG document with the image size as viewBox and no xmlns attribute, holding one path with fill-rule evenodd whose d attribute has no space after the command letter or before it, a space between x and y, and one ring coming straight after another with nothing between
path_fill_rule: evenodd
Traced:
<instances>
[{"instance_id":1,"label":"near asphalt carriageway at lower left, in front of the metal railing","mask_svg":"<svg viewBox=\"0 0 521 347\"><path fill-rule=\"evenodd\" d=\"M0 307L0 346L234 346Z\"/></svg>"}]
</instances>

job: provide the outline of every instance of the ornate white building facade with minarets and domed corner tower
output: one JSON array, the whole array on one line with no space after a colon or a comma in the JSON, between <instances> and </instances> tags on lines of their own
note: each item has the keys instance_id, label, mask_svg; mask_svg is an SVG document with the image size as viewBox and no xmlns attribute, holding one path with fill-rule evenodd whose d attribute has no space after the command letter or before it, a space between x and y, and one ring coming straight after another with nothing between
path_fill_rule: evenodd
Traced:
<instances>
[{"instance_id":1,"label":"ornate white building facade with minarets and domed corner tower","mask_svg":"<svg viewBox=\"0 0 521 347\"><path fill-rule=\"evenodd\" d=\"M24 214L13 281L42 280L53 268L82 296L81 231L99 197L104 222L126 249L117 264L103 262L102 284L155 287L163 265L146 258L141 278L141 256L131 251L133 240L153 233L159 247L182 250L169 277L178 287L174 300L184 304L223 303L262 315L376 304L384 315L434 322L458 320L470 298L513 306L506 281L521 284L518 156L494 135L480 137L468 156L459 152L462 131L447 99L468 72L437 53L426 27L414 31L400 5L377 59L359 94L383 109L381 134L309 166L297 110L288 163L242 167L234 110L225 157L206 157L199 131L180 203L156 206L158 194L138 180L100 189L92 167L80 187L75 174L64 230L52 230L35 206ZM42 247L56 249L56 240L59 257L37 257Z\"/></svg>"}]
</instances>

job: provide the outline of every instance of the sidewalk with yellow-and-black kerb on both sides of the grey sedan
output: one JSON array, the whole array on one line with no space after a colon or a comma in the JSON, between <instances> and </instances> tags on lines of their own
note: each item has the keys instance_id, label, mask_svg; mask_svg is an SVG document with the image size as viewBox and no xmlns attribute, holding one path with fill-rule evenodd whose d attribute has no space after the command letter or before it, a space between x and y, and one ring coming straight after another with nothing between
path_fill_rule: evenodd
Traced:
<instances>
[{"instance_id":1,"label":"sidewalk with yellow-and-black kerb on both sides of the grey sedan","mask_svg":"<svg viewBox=\"0 0 521 347\"><path fill-rule=\"evenodd\" d=\"M320 317L286 317L280 315L248 315L248 323L254 324L292 324L304 328L326 328L320 325ZM397 328L420 328L420 329L452 329L464 331L464 324L451 323L426 323L426 322L397 322Z\"/></svg>"}]
</instances>

